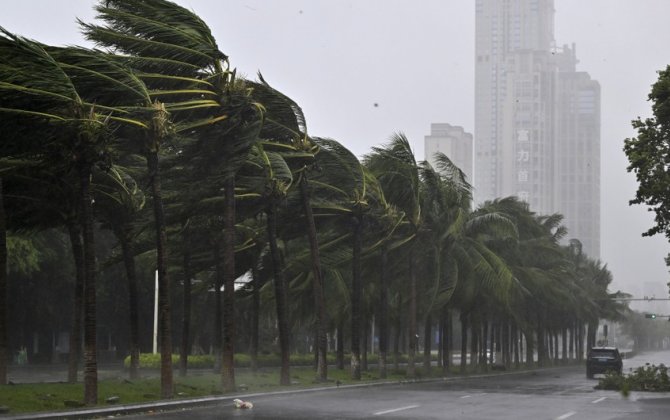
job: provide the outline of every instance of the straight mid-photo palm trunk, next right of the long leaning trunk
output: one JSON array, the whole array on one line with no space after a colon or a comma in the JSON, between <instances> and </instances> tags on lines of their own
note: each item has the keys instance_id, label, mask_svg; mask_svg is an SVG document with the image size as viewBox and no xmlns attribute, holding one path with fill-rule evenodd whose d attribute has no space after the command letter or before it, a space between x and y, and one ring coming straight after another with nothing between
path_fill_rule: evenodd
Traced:
<instances>
[{"instance_id":1,"label":"straight mid-photo palm trunk, next right of the long leaning trunk","mask_svg":"<svg viewBox=\"0 0 670 420\"><path fill-rule=\"evenodd\" d=\"M361 246L362 226L358 217L352 218L353 258L351 278L351 379L361 379Z\"/></svg>"}]
</instances>

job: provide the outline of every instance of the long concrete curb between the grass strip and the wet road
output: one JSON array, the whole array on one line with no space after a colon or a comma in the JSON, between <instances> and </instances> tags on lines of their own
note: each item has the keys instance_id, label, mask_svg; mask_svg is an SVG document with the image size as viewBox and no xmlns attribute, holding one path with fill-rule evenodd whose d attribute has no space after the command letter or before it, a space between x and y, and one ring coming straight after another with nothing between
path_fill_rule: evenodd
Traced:
<instances>
[{"instance_id":1,"label":"long concrete curb between the grass strip and the wet road","mask_svg":"<svg viewBox=\"0 0 670 420\"><path fill-rule=\"evenodd\" d=\"M91 407L91 408L79 408L74 410L63 410L63 411L49 411L49 412L37 412L37 413L26 413L21 415L0 415L0 419L12 419L12 420L27 420L27 419L90 419L90 418L100 418L100 417L109 417L117 415L129 415L129 414L138 414L138 413L148 413L155 411L175 411L179 409L193 408L193 407L205 407L209 405L216 405L228 402L229 405L233 405L233 399L239 398L242 400L252 399L254 397L260 396L273 396L273 395L286 395L286 394L301 394L309 392L319 392L319 391L335 391L339 389L354 389L354 388L366 388L373 386L388 386L388 385L404 385L404 384L414 384L414 383L430 383L430 382L452 382L452 381L461 381L475 378L489 378L496 376L512 376L512 375L528 375L538 371L549 371L549 370L564 370L565 368L575 367L576 365L567 365L567 366L557 366L550 368L538 368L538 369L529 369L529 370L519 370L519 371L501 371L497 373L483 373L483 374L474 374L467 376L449 376L442 378L429 378L429 379L412 379L412 380L401 380L401 381L375 381L375 382L365 382L360 384L350 384L350 385L336 385L331 386L320 386L314 388L301 388L301 389L289 389L281 391L270 391L270 392L256 392L251 394L230 394L230 395L221 395L215 397L200 397L200 398L190 398L183 400L158 400L149 403L135 403L135 404L119 404L112 405L107 407Z\"/></svg>"}]
</instances>

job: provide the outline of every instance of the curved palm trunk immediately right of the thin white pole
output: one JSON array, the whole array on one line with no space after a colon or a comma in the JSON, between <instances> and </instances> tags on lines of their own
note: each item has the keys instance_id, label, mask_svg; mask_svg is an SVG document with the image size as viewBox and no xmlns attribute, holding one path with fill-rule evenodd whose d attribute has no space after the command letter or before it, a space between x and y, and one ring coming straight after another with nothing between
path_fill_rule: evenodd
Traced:
<instances>
[{"instance_id":1,"label":"curved palm trunk immediately right of the thin white pole","mask_svg":"<svg viewBox=\"0 0 670 420\"><path fill-rule=\"evenodd\" d=\"M156 228L156 270L158 271L158 309L161 350L161 397L172 398L172 332L170 328L170 280L167 271L167 233L161 196L158 152L147 154ZM88 281L88 279L87 279Z\"/></svg>"}]
</instances>

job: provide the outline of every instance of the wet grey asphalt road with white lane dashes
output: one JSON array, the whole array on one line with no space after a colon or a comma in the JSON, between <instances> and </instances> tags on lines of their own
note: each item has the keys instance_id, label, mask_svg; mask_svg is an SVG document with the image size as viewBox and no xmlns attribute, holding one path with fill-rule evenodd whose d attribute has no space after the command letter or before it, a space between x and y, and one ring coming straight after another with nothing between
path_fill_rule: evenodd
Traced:
<instances>
[{"instance_id":1,"label":"wet grey asphalt road with white lane dashes","mask_svg":"<svg viewBox=\"0 0 670 420\"><path fill-rule=\"evenodd\" d=\"M624 369L668 363L670 352L626 360ZM435 382L256 396L251 409L216 406L150 413L161 419L644 419L670 418L670 394L598 391L582 368ZM145 415L145 416L147 416ZM132 416L140 418L144 416Z\"/></svg>"}]
</instances>

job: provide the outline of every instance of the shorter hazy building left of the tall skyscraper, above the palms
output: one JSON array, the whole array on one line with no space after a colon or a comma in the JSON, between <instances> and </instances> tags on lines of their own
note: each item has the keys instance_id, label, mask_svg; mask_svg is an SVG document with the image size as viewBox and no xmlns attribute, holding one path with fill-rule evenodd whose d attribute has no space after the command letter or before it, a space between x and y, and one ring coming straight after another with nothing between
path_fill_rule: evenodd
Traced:
<instances>
[{"instance_id":1,"label":"shorter hazy building left of the tall skyscraper, above the palms","mask_svg":"<svg viewBox=\"0 0 670 420\"><path fill-rule=\"evenodd\" d=\"M468 182L472 183L473 142L471 133L463 130L463 127L446 123L431 124L430 135L425 136L424 141L426 160L433 168L437 169L435 153L444 153L465 173Z\"/></svg>"}]
</instances>

